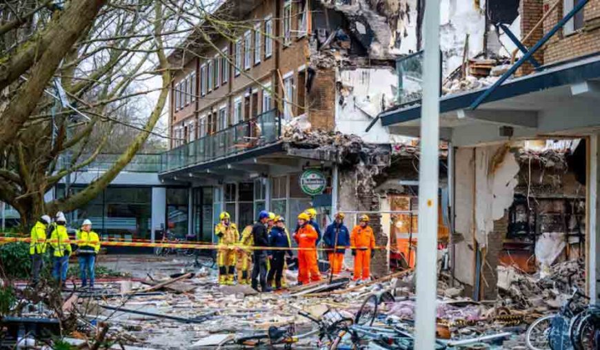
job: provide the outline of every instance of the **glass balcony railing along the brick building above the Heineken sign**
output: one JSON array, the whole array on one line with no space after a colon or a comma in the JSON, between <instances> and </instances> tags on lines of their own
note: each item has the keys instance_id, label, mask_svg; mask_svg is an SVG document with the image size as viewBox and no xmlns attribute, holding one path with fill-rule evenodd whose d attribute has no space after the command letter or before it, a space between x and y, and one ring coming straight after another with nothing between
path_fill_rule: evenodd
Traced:
<instances>
[{"instance_id":1,"label":"glass balcony railing along the brick building above the Heineken sign","mask_svg":"<svg viewBox=\"0 0 600 350\"><path fill-rule=\"evenodd\" d=\"M279 140L281 120L277 110L259 114L227 129L203 136L161 154L161 172L252 150Z\"/></svg>"}]
</instances>

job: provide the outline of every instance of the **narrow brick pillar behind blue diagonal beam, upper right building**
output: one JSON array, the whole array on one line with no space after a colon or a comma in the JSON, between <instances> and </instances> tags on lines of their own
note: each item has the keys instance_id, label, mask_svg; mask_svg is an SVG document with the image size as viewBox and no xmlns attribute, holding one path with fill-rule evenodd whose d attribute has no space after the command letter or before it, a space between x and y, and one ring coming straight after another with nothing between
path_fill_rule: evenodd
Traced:
<instances>
[{"instance_id":1,"label":"narrow brick pillar behind blue diagonal beam, upper right building","mask_svg":"<svg viewBox=\"0 0 600 350\"><path fill-rule=\"evenodd\" d=\"M521 14L521 38L524 38L543 16L543 0L521 0L519 13ZM531 48L541 37L543 37L543 28L540 25L523 44L526 48ZM543 64L543 50L538 50L533 56L540 64ZM531 72L533 72L533 65L525 63L519 68L517 75Z\"/></svg>"}]
</instances>

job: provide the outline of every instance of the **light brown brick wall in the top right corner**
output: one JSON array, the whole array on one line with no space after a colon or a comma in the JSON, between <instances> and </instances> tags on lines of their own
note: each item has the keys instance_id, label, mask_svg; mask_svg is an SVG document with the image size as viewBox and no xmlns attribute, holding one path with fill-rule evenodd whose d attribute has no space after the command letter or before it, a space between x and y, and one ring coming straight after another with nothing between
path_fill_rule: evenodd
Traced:
<instances>
[{"instance_id":1,"label":"light brown brick wall in the top right corner","mask_svg":"<svg viewBox=\"0 0 600 350\"><path fill-rule=\"evenodd\" d=\"M552 6L554 0L544 0L544 8ZM563 1L559 1L556 13L543 23L548 32L563 17ZM559 30L546 45L544 63L555 63L578 56L600 52L600 0L590 0L583 8L583 28L572 34Z\"/></svg>"}]
</instances>

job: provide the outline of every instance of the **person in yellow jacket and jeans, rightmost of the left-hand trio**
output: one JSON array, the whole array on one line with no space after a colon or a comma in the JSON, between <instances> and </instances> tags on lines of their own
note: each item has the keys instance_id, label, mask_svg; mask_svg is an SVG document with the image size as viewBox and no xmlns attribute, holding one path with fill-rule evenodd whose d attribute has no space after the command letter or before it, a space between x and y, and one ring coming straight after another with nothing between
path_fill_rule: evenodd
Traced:
<instances>
[{"instance_id":1,"label":"person in yellow jacket and jeans, rightmost of the left-hand trio","mask_svg":"<svg viewBox=\"0 0 600 350\"><path fill-rule=\"evenodd\" d=\"M96 255L100 251L100 238L96 232L92 231L92 221L83 220L81 229L77 231L77 245L81 288L88 287L88 278L90 278L90 288L94 288L94 266L96 265Z\"/></svg>"}]
</instances>

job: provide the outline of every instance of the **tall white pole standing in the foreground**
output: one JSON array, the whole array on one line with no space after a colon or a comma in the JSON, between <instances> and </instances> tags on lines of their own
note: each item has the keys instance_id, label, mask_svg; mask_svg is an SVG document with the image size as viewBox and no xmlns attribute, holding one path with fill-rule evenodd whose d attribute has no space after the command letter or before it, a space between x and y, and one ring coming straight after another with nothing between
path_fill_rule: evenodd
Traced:
<instances>
[{"instance_id":1,"label":"tall white pole standing in the foreground","mask_svg":"<svg viewBox=\"0 0 600 350\"><path fill-rule=\"evenodd\" d=\"M419 164L419 248L414 349L435 348L437 206L439 189L439 0L426 2Z\"/></svg>"}]
</instances>

